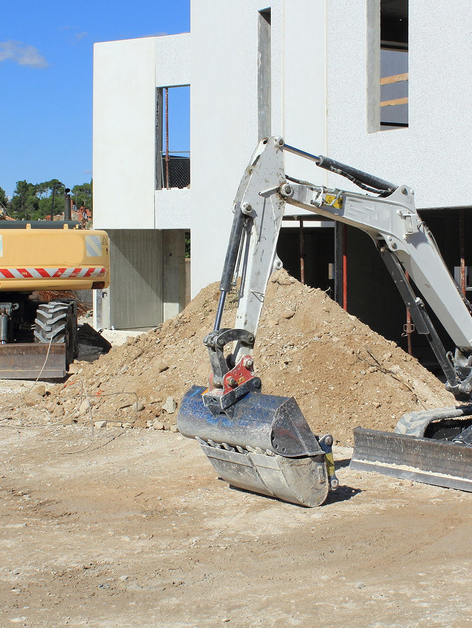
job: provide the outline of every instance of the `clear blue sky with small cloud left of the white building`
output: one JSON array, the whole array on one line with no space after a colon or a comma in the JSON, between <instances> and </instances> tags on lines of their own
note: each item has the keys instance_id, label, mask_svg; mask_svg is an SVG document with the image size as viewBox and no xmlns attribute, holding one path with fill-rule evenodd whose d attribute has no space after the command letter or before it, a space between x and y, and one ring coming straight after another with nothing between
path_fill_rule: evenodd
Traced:
<instances>
[{"instance_id":1,"label":"clear blue sky with small cloud left of the white building","mask_svg":"<svg viewBox=\"0 0 472 628\"><path fill-rule=\"evenodd\" d=\"M188 31L190 0L3 0L0 187L11 197L23 179L57 178L71 188L90 181L95 41ZM176 102L174 112L185 116L187 108ZM175 113L171 124L177 122ZM169 141L178 146L170 148L188 150L186 134L172 130Z\"/></svg>"}]
</instances>

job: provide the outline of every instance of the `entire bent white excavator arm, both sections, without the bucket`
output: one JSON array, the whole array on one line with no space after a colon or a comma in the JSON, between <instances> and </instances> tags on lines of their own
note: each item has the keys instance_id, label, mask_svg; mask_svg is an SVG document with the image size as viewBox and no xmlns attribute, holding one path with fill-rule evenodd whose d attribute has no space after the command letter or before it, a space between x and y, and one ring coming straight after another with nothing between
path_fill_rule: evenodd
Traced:
<instances>
[{"instance_id":1,"label":"entire bent white excavator arm, both sections, without the bucket","mask_svg":"<svg viewBox=\"0 0 472 628\"><path fill-rule=\"evenodd\" d=\"M291 177L287 181L284 151L299 154L323 168L347 176L378 196L320 187ZM431 343L448 380L448 390L458 399L469 400L472 391L468 364L472 354L471 305L459 291L431 232L417 214L412 188L396 186L326 157L316 157L286 146L282 138L264 139L259 143L240 183L220 284L222 298L217 322L205 344L218 346L215 338L219 335L225 296L239 273L241 283L235 327L249 333L252 341L247 343L241 338L235 345L230 363L237 364L242 355L251 352L269 276L282 266L276 254L276 244L285 203L357 227L372 237L412 315L416 331L426 335ZM412 278L453 339L456 345L454 357L444 350L424 301L414 295L405 273ZM210 357L213 358L212 365L216 365L214 352L213 355L210 352ZM226 360L220 359L218 364L226 369ZM218 373L215 377L221 378L221 375Z\"/></svg>"}]
</instances>

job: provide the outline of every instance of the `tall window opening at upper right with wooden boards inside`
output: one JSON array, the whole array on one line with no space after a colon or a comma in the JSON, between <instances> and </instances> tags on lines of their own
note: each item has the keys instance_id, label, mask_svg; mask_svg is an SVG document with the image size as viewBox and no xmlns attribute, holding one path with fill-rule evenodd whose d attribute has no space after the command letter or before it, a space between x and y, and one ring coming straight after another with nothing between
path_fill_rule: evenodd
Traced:
<instances>
[{"instance_id":1,"label":"tall window opening at upper right with wooden boards inside","mask_svg":"<svg viewBox=\"0 0 472 628\"><path fill-rule=\"evenodd\" d=\"M408 126L408 0L380 0L380 127Z\"/></svg>"}]
</instances>

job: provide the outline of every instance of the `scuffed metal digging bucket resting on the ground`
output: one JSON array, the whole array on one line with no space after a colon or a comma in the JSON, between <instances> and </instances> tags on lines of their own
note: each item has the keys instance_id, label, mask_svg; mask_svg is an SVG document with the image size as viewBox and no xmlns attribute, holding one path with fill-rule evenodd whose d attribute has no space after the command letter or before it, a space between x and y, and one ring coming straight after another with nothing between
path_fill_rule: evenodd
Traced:
<instances>
[{"instance_id":1,"label":"scuffed metal digging bucket resting on the ground","mask_svg":"<svg viewBox=\"0 0 472 628\"><path fill-rule=\"evenodd\" d=\"M223 480L294 504L323 504L330 484L337 486L332 437L318 441L293 398L249 393L234 404L232 416L213 416L204 392L193 386L186 393L177 425L200 443Z\"/></svg>"}]
</instances>

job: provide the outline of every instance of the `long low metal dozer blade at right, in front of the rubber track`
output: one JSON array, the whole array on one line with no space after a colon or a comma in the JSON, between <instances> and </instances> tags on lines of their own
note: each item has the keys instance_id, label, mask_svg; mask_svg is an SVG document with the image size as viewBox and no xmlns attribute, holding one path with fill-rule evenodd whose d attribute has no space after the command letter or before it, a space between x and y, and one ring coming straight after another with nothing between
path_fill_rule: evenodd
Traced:
<instances>
[{"instance_id":1,"label":"long low metal dozer blade at right, in front of the rubber track","mask_svg":"<svg viewBox=\"0 0 472 628\"><path fill-rule=\"evenodd\" d=\"M472 447L446 440L355 428L349 466L472 492Z\"/></svg>"}]
</instances>

